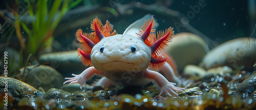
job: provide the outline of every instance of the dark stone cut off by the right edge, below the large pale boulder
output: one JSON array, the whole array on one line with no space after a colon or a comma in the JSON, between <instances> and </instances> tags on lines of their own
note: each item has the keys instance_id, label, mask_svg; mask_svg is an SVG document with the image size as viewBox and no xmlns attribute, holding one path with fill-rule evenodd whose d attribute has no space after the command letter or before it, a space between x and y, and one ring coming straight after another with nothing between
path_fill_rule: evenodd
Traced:
<instances>
[{"instance_id":1,"label":"dark stone cut off by the right edge, below the large pale boulder","mask_svg":"<svg viewBox=\"0 0 256 110\"><path fill-rule=\"evenodd\" d=\"M234 92L236 94L249 94L256 90L256 72L246 78Z\"/></svg>"}]
</instances>

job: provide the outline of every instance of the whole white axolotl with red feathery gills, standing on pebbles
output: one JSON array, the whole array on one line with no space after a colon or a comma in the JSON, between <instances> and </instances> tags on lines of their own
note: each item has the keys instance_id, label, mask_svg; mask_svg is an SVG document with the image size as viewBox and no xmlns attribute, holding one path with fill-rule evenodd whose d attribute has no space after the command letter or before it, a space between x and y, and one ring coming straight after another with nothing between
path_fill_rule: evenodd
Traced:
<instances>
[{"instance_id":1,"label":"whole white axolotl with red feathery gills, standing on pebbles","mask_svg":"<svg viewBox=\"0 0 256 110\"><path fill-rule=\"evenodd\" d=\"M117 34L113 25L106 20L103 25L96 17L91 23L91 33L83 33L81 29L76 32L76 37L81 43L78 56L84 65L92 65L81 74L72 74L71 78L63 84L70 82L79 83L80 88L92 76L101 75L99 84L108 87L111 84L121 83L123 86L144 86L155 81L160 87L160 94L178 95L175 91L183 92L184 88L175 86L162 74L157 72L162 68L170 67L165 63L162 55L167 43L172 41L174 31L172 27L155 33L155 21L144 20L137 36L131 34ZM168 68L167 68L168 71ZM166 72L165 72L166 73ZM166 75L168 76L167 73ZM129 76L129 77L127 77ZM169 75L169 77L174 75Z\"/></svg>"}]
</instances>

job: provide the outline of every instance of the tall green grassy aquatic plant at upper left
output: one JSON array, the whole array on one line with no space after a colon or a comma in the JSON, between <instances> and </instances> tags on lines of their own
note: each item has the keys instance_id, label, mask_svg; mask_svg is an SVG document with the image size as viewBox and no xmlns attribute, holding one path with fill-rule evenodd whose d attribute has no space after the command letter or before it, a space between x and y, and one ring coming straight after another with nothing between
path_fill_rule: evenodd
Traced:
<instances>
[{"instance_id":1,"label":"tall green grassy aquatic plant at upper left","mask_svg":"<svg viewBox=\"0 0 256 110\"><path fill-rule=\"evenodd\" d=\"M53 32L57 25L59 24L62 16L71 8L75 7L81 0L73 2L72 1L37 1L35 7L31 4L28 7L27 12L32 19L32 25L27 25L23 21L19 20L19 15L15 13L16 22L16 34L19 39L22 39L22 33L20 31L20 26L28 35L28 41L25 43L19 40L24 54L26 57L29 54L36 57L39 52L45 48L51 46L53 41ZM52 4L52 5L49 5ZM51 6L51 8L48 8ZM32 29L29 29L32 27Z\"/></svg>"}]
</instances>

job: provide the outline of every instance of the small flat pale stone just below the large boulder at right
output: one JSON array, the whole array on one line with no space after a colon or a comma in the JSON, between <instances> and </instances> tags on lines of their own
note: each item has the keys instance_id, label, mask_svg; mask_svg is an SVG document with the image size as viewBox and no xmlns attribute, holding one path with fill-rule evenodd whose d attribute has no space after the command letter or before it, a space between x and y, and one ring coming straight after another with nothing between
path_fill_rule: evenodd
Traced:
<instances>
[{"instance_id":1,"label":"small flat pale stone just below the large boulder at right","mask_svg":"<svg viewBox=\"0 0 256 110\"><path fill-rule=\"evenodd\" d=\"M217 68L212 68L212 69L207 70L206 74L230 76L231 74L233 74L233 70L230 67L217 67Z\"/></svg>"}]
</instances>

